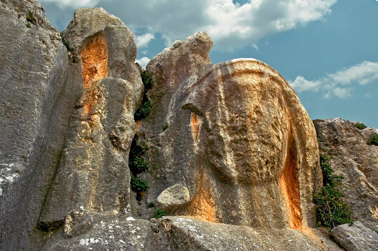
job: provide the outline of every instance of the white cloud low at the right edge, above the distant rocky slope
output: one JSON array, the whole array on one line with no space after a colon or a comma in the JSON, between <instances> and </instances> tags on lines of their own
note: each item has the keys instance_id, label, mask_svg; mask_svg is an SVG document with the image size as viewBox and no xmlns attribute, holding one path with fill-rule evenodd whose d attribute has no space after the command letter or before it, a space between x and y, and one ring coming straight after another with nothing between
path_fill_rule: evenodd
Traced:
<instances>
[{"instance_id":1,"label":"white cloud low at the right edge, above the distant rocky slope","mask_svg":"<svg viewBox=\"0 0 378 251\"><path fill-rule=\"evenodd\" d=\"M326 77L318 80L307 80L298 76L294 81L289 80L289 84L297 91L326 91L325 98L337 96L347 98L351 96L352 87L346 85L365 85L378 79L378 62L363 61L360 64L344 68L336 73L327 74Z\"/></svg>"}]
</instances>

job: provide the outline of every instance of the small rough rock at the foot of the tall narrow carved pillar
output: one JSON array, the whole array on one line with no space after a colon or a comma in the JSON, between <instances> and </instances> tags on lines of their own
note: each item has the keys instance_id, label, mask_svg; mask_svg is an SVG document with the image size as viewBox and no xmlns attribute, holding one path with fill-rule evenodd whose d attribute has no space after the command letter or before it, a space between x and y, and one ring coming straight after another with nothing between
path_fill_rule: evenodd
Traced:
<instances>
[{"instance_id":1,"label":"small rough rock at the foot of the tall narrow carved pillar","mask_svg":"<svg viewBox=\"0 0 378 251\"><path fill-rule=\"evenodd\" d=\"M73 237L88 232L92 229L93 219L89 212L84 209L77 209L66 215L64 219L64 236Z\"/></svg>"}]
</instances>

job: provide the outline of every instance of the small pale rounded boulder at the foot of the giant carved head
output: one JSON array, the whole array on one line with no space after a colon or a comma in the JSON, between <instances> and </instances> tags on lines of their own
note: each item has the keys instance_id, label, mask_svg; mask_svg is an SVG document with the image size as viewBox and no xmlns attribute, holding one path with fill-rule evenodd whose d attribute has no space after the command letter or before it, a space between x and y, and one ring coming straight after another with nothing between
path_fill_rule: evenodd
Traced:
<instances>
[{"instance_id":1,"label":"small pale rounded boulder at the foot of the giant carved head","mask_svg":"<svg viewBox=\"0 0 378 251\"><path fill-rule=\"evenodd\" d=\"M157 205L165 212L176 211L181 206L189 202L190 193L186 187L175 184L168 187L157 197Z\"/></svg>"}]
</instances>

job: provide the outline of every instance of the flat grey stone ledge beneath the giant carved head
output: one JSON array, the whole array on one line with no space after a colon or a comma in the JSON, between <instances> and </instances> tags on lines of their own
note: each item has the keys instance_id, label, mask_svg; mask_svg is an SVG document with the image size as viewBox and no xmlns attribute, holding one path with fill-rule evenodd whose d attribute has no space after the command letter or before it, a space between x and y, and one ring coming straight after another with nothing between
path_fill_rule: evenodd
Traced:
<instances>
[{"instance_id":1,"label":"flat grey stone ledge beneath the giant carved head","mask_svg":"<svg viewBox=\"0 0 378 251\"><path fill-rule=\"evenodd\" d=\"M342 250L307 228L266 229L187 217L151 219L147 250Z\"/></svg>"}]
</instances>

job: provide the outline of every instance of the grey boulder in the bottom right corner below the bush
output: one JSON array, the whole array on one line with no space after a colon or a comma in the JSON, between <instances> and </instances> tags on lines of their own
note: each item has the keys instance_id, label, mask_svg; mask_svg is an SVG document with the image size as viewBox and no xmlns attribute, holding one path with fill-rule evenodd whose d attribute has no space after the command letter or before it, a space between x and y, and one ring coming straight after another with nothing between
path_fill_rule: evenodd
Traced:
<instances>
[{"instance_id":1,"label":"grey boulder in the bottom right corner below the bush","mask_svg":"<svg viewBox=\"0 0 378 251\"><path fill-rule=\"evenodd\" d=\"M378 250L378 233L359 221L336 226L331 234L348 251Z\"/></svg>"}]
</instances>

